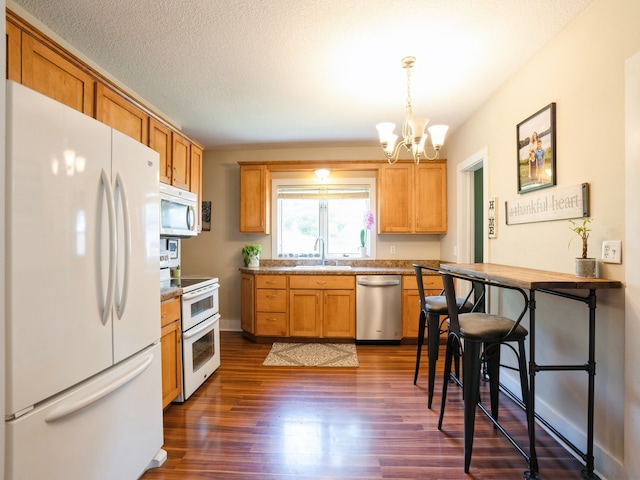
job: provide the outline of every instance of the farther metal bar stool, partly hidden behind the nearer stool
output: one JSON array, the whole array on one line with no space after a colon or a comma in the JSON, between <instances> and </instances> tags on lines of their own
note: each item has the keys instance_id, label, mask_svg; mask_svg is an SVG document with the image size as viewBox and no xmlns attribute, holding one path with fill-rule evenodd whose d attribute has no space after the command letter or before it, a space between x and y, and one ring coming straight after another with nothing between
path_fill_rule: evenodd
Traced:
<instances>
[{"instance_id":1,"label":"farther metal bar stool, partly hidden behind the nearer stool","mask_svg":"<svg viewBox=\"0 0 640 480\"><path fill-rule=\"evenodd\" d=\"M448 315L447 311L447 298L443 295L444 290L440 292L440 295L431 295L425 297L424 294L424 280L422 278L423 270L429 270L439 273L437 268L427 267L424 265L413 264L413 269L416 274L416 283L418 284L418 294L420 296L420 318L418 320L418 348L416 352L416 368L413 374L413 384L418 383L418 372L420 370L420 359L422 358L422 345L424 345L424 333L427 330L427 355L429 357L429 396L427 406L431 408L433 402L433 388L435 385L436 376L436 364L438 363L438 356L440 350L440 335L446 332L446 329L441 327L440 318ZM469 301L469 295L466 298L456 298L456 303L461 312L470 312L473 309L473 303Z\"/></svg>"}]
</instances>

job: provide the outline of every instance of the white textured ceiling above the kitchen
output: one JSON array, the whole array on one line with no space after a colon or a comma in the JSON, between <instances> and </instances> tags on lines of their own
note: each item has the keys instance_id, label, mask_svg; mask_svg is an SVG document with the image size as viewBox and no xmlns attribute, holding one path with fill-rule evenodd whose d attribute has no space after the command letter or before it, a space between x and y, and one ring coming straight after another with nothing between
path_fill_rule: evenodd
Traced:
<instances>
[{"instance_id":1,"label":"white textured ceiling above the kitchen","mask_svg":"<svg viewBox=\"0 0 640 480\"><path fill-rule=\"evenodd\" d=\"M7 0L205 148L452 131L592 0Z\"/></svg>"}]
</instances>

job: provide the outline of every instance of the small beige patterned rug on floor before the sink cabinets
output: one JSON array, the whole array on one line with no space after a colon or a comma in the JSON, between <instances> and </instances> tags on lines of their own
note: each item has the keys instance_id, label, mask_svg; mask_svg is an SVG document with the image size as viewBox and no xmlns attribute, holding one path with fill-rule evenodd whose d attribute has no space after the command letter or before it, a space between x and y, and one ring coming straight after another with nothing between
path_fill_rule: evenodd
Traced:
<instances>
[{"instance_id":1,"label":"small beige patterned rug on floor before the sink cabinets","mask_svg":"<svg viewBox=\"0 0 640 480\"><path fill-rule=\"evenodd\" d=\"M280 343L262 365L272 367L357 367L356 346L350 343Z\"/></svg>"}]
</instances>

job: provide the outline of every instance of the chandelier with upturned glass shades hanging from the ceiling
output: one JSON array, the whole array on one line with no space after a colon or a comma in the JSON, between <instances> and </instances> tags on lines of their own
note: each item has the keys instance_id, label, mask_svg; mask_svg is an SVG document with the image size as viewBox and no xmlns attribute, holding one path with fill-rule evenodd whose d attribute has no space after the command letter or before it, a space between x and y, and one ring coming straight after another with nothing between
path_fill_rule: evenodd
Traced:
<instances>
[{"instance_id":1,"label":"chandelier with upturned glass shades hanging from the ceiling","mask_svg":"<svg viewBox=\"0 0 640 480\"><path fill-rule=\"evenodd\" d=\"M416 164L420 163L421 158L435 160L438 158L440 148L442 148L442 144L444 143L444 136L449 129L447 125L434 125L429 127L431 143L435 154L432 157L428 156L425 151L425 145L429 135L425 132L425 127L429 123L429 119L414 117L411 106L411 67L413 67L414 63L416 63L415 57L404 57L402 59L402 68L407 71L407 104L404 107L405 117L402 122L402 141L396 145L398 135L393 133L393 129L396 127L394 123L384 122L376 125L378 134L380 135L380 146L387 160L392 165L398 161L400 147L404 147L407 151L411 152L413 161Z\"/></svg>"}]
</instances>

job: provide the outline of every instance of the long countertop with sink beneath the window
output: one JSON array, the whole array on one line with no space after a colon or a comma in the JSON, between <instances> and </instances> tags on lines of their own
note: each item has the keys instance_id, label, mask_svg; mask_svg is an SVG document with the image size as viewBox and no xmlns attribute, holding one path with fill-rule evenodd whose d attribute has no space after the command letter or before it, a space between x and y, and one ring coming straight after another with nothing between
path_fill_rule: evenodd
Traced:
<instances>
[{"instance_id":1,"label":"long countertop with sink beneath the window","mask_svg":"<svg viewBox=\"0 0 640 480\"><path fill-rule=\"evenodd\" d=\"M254 275L414 275L413 264L438 267L438 260L327 260L319 261L261 260L260 267L240 267L242 273ZM302 267L300 267L302 266ZM350 267L350 268L349 268Z\"/></svg>"}]
</instances>

